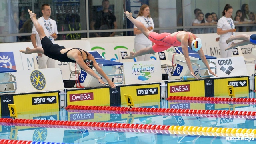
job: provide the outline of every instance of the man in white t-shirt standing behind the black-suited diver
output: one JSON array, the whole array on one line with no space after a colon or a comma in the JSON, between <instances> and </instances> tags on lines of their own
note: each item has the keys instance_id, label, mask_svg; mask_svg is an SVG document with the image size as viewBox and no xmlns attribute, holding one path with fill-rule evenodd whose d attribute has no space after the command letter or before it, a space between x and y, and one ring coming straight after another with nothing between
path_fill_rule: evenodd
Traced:
<instances>
[{"instance_id":1,"label":"man in white t-shirt standing behind the black-suited diver","mask_svg":"<svg viewBox=\"0 0 256 144\"><path fill-rule=\"evenodd\" d=\"M50 18L51 16L51 7L49 4L43 4L41 6L41 12L43 14L42 17L38 18L39 24L44 28L44 33L47 38L49 38L52 43L58 37L57 24L55 20ZM31 42L34 48L42 46L41 40L39 38L38 32L36 31L35 26L33 25L32 34L31 34ZM56 60L45 56L44 54L38 54L38 68L55 68Z\"/></svg>"}]
</instances>

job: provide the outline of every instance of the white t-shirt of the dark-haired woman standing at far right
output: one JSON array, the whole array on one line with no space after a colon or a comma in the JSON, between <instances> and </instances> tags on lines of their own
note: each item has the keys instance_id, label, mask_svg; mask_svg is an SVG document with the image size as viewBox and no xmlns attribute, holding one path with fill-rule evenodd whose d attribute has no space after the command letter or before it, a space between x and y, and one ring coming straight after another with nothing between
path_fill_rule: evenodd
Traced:
<instances>
[{"instance_id":1,"label":"white t-shirt of the dark-haired woman standing at far right","mask_svg":"<svg viewBox=\"0 0 256 144\"><path fill-rule=\"evenodd\" d=\"M232 27L231 27L232 26ZM217 23L217 28L221 28L222 30L229 30L232 28L235 28L234 21L232 18L226 18L225 16L222 16ZM220 35L220 42L226 42L228 38L232 35L232 32L227 32L226 34Z\"/></svg>"}]
</instances>

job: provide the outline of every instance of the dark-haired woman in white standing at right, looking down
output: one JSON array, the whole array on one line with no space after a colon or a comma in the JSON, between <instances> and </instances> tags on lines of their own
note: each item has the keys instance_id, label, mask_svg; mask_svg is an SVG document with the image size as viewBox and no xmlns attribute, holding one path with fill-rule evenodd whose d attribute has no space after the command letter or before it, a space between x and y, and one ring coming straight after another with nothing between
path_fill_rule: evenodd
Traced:
<instances>
[{"instance_id":1,"label":"dark-haired woman in white standing at right, looking down","mask_svg":"<svg viewBox=\"0 0 256 144\"><path fill-rule=\"evenodd\" d=\"M220 46L220 57L227 58L232 56L232 50L226 50L231 43L226 44L226 40L230 38L231 35L236 32L234 22L231 18L233 13L233 8L229 4L226 4L222 17L217 23L217 34L220 35L219 46Z\"/></svg>"}]
</instances>

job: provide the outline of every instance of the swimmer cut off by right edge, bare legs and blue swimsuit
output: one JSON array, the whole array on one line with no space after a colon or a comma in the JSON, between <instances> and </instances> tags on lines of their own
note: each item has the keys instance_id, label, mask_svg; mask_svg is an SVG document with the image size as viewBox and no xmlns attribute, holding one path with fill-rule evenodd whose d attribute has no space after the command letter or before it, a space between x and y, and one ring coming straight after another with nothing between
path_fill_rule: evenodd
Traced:
<instances>
[{"instance_id":1,"label":"swimmer cut off by right edge, bare legs and blue swimsuit","mask_svg":"<svg viewBox=\"0 0 256 144\"><path fill-rule=\"evenodd\" d=\"M236 36L231 36L230 38L228 38L228 40L226 40L226 43L229 43L233 40L243 40L243 41L237 42L237 43L232 42L232 44L228 48L226 48L225 50L229 50L231 48L236 48L238 46L244 46L244 45L247 45L247 44L255 45L256 44L256 34L252 34L252 35L239 34L239 35L236 35Z\"/></svg>"}]
</instances>

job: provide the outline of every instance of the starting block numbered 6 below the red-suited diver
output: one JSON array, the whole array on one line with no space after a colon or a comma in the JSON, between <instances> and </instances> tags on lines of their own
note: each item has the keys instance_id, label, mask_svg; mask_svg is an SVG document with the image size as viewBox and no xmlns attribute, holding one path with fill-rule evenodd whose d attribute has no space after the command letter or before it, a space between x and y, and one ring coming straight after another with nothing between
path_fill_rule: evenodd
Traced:
<instances>
[{"instance_id":1,"label":"starting block numbered 6 below the red-suited diver","mask_svg":"<svg viewBox=\"0 0 256 144\"><path fill-rule=\"evenodd\" d=\"M176 50L176 53L170 53L168 54L168 60L171 62L173 61L176 66L174 67L174 72L170 78L170 80L179 80L182 76L191 76L190 70L188 69L188 66L186 64L185 57L182 52L181 47L174 47ZM207 68L202 67L204 66L204 63L202 62L198 52L194 52L188 47L188 55L192 64L192 68L194 71L194 74L197 76L197 78L201 79L203 77L210 77L213 75L209 75ZM212 63L214 64L214 67L210 67L211 69L215 69L216 73L216 64L214 62L211 62L211 59L216 59L216 57L213 56L207 56L205 55L208 64Z\"/></svg>"}]
</instances>

